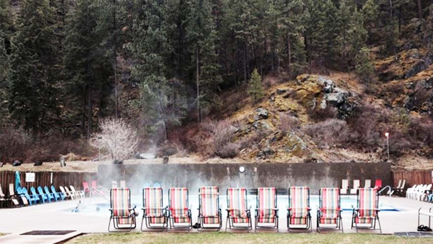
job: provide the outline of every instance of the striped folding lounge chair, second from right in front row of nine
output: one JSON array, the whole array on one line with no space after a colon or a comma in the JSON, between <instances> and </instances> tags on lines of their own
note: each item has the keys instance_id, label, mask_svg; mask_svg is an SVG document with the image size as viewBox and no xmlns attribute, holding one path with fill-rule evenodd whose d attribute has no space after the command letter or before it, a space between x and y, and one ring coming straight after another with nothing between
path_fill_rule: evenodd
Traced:
<instances>
[{"instance_id":1,"label":"striped folding lounge chair, second from right in front row of nine","mask_svg":"<svg viewBox=\"0 0 433 244\"><path fill-rule=\"evenodd\" d=\"M343 232L340 208L340 189L321 188L319 190L319 209L317 210L317 232L320 225L332 224Z\"/></svg>"}]
</instances>

